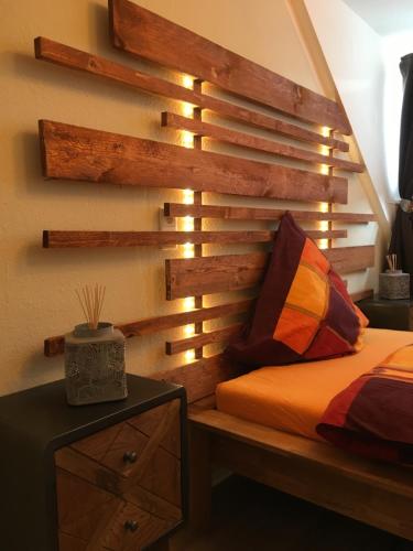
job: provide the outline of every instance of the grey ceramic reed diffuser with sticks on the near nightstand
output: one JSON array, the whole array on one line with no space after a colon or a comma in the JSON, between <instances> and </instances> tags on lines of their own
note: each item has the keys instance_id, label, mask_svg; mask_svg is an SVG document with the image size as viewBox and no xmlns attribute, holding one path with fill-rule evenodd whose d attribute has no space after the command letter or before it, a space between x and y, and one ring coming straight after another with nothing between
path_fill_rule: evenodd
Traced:
<instances>
[{"instance_id":1,"label":"grey ceramic reed diffuser with sticks on the near nightstand","mask_svg":"<svg viewBox=\"0 0 413 551\"><path fill-rule=\"evenodd\" d=\"M65 335L65 376L70 406L127 398L124 336L111 323L99 322L105 289L77 291L86 323Z\"/></svg>"}]
</instances>

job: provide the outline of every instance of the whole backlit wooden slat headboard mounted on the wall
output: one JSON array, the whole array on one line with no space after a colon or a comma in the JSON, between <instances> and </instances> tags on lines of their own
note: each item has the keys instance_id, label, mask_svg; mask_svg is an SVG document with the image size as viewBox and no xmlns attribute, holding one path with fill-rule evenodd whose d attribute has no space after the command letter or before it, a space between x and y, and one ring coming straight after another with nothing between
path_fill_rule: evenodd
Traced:
<instances>
[{"instance_id":1,"label":"whole backlit wooden slat headboard mounted on the wall","mask_svg":"<svg viewBox=\"0 0 413 551\"><path fill-rule=\"evenodd\" d=\"M187 387L189 401L200 399L215 390L220 380L235 376L237 366L228 365L221 354L204 357L204 346L222 344L239 334L242 325L230 321L210 332L203 323L247 315L254 303L251 298L263 278L268 252L203 256L203 244L261 244L273 240L274 228L241 230L205 230L203 220L279 220L285 209L273 199L294 201L292 210L298 222L325 222L323 229L309 229L314 239L328 239L325 251L340 273L366 270L374 263L374 247L334 247L334 239L346 238L343 225L368 224L376 220L371 214L336 213L334 204L346 204L348 183L335 171L362 172L362 163L343 158L348 143L335 132L349 134L350 125L339 104L325 98L268 68L230 52L192 31L172 23L128 0L109 1L110 34L113 45L145 61L192 75L193 89L164 78L135 71L98 55L75 50L65 44L39 37L35 56L39 60L98 76L113 85L128 86L137 93L185 101L193 107L193 117L165 111L162 126L194 133L194 148L145 138L122 136L64 122L40 121L40 141L44 175L47 179L86 181L96 184L122 184L161 188L191 188L194 203L166 203L165 216L194 218L194 231L94 231L79 229L48 229L43 234L45 248L139 247L162 245L194 245L194 257L171 259L165 263L166 298L195 296L195 309L138 320L117 326L128 336L143 336L173 327L194 324L195 335L169 339L167 355L195 349L196 361L157 374ZM173 47L171 47L173 44ZM215 85L227 93L227 99L203 91L203 83ZM241 107L228 97L244 100ZM249 101L249 105L247 102ZM267 111L257 110L256 105ZM171 108L170 108L171 109ZM219 123L205 122L203 112L213 111ZM279 114L282 114L280 118ZM225 121L237 121L246 130L233 130ZM289 120L285 120L289 119ZM298 121L297 121L298 120ZM304 121L304 122L303 122ZM328 133L319 127L328 127ZM265 138L252 134L250 128L265 131ZM203 137L238 148L239 154L228 155L203 150ZM287 138L289 143L279 141ZM293 141L294 144L291 144ZM296 143L297 142L297 143ZM327 148L315 151L314 145ZM268 161L244 159L246 149L268 155ZM336 155L336 152L339 155ZM283 164L294 161L300 168ZM320 165L323 171L320 171ZM272 201L268 207L205 204L204 192L240 197L260 197ZM121 188L119 191L121 192ZM328 203L327 212L319 212L318 202ZM308 204L314 204L311 208ZM303 208L304 209L301 209ZM339 228L333 224L340 223ZM268 246L267 246L268 249ZM249 290L248 298L205 307L203 295L227 291ZM361 291L361 298L370 291ZM251 294L252 293L252 294ZM63 336L45 339L45 355L64 350Z\"/></svg>"}]
</instances>

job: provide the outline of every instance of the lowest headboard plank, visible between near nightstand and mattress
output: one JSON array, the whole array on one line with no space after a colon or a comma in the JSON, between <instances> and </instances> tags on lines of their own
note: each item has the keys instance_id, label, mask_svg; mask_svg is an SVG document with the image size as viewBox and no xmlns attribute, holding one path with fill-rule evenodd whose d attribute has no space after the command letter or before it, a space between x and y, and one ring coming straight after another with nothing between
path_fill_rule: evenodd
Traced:
<instances>
[{"instance_id":1,"label":"lowest headboard plank, visible between near nightstand and mattress","mask_svg":"<svg viewBox=\"0 0 413 551\"><path fill-rule=\"evenodd\" d=\"M218 354L175 369L153 374L151 378L183 385L188 403L192 403L210 396L219 382L232 379L241 372L240 366L230 364L222 354Z\"/></svg>"}]
</instances>

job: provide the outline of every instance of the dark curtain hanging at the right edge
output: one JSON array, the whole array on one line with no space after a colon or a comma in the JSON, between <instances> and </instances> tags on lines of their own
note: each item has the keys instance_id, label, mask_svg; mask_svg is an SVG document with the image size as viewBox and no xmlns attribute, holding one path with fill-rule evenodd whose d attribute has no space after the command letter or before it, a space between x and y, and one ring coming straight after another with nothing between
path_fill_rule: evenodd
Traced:
<instances>
[{"instance_id":1,"label":"dark curtain hanging at the right edge","mask_svg":"<svg viewBox=\"0 0 413 551\"><path fill-rule=\"evenodd\" d=\"M410 273L413 291L413 54L401 58L403 106L400 127L398 206L389 252L398 255L398 268Z\"/></svg>"}]
</instances>

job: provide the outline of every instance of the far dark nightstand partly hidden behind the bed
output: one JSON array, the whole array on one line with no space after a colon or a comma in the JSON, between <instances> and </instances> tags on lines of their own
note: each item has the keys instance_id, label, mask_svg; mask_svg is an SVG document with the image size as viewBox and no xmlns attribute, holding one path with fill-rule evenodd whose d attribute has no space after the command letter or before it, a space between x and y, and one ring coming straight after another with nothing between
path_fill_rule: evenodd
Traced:
<instances>
[{"instance_id":1,"label":"far dark nightstand partly hidden behind the bed","mask_svg":"<svg viewBox=\"0 0 413 551\"><path fill-rule=\"evenodd\" d=\"M413 300L373 296L357 303L370 320L370 327L413 331Z\"/></svg>"}]
</instances>

